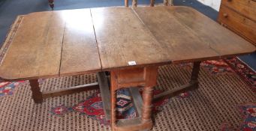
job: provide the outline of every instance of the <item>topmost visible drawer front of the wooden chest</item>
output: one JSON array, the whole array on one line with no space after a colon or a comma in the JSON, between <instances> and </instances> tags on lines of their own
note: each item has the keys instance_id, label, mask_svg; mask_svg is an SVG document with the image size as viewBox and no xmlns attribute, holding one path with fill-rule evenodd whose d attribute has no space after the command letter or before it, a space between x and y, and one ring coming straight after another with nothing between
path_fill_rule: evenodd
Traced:
<instances>
[{"instance_id":1,"label":"topmost visible drawer front of the wooden chest","mask_svg":"<svg viewBox=\"0 0 256 131\"><path fill-rule=\"evenodd\" d=\"M222 0L221 4L256 21L256 0Z\"/></svg>"}]
</instances>

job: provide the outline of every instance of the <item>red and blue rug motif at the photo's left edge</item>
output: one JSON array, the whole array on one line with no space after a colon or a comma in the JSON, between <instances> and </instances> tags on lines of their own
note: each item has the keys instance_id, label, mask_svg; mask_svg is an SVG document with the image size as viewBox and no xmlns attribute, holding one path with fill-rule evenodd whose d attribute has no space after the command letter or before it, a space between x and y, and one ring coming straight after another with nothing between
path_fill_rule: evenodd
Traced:
<instances>
[{"instance_id":1,"label":"red and blue rug motif at the photo's left edge","mask_svg":"<svg viewBox=\"0 0 256 131\"><path fill-rule=\"evenodd\" d=\"M14 94L14 88L19 84L20 82L0 82L0 97Z\"/></svg>"}]
</instances>

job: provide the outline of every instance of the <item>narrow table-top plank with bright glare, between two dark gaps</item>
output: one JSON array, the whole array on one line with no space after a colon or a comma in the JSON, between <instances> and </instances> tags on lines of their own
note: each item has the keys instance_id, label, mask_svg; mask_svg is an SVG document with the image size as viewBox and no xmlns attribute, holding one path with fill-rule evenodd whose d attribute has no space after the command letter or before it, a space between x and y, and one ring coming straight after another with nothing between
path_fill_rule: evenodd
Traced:
<instances>
[{"instance_id":1,"label":"narrow table-top plank with bright glare, between two dark gaps","mask_svg":"<svg viewBox=\"0 0 256 131\"><path fill-rule=\"evenodd\" d=\"M65 21L60 76L101 70L89 9L60 12Z\"/></svg>"}]
</instances>

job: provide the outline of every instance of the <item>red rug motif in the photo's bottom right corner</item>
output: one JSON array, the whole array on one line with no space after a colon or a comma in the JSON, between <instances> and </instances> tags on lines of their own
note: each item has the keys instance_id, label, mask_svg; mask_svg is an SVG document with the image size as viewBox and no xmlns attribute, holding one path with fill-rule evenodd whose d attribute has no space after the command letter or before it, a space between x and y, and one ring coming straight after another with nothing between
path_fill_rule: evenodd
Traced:
<instances>
[{"instance_id":1,"label":"red rug motif in the photo's bottom right corner","mask_svg":"<svg viewBox=\"0 0 256 131\"><path fill-rule=\"evenodd\" d=\"M243 121L239 129L241 131L255 131L256 130L256 103L248 103L239 106L239 111L243 115ZM221 131L234 131L229 124L224 124Z\"/></svg>"}]
</instances>

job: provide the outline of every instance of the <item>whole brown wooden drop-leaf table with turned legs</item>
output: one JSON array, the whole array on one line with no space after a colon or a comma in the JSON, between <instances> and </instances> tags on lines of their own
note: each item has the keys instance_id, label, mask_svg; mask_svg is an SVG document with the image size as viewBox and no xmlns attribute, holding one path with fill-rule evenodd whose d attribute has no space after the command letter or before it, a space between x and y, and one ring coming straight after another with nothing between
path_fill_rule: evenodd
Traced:
<instances>
[{"instance_id":1,"label":"whole brown wooden drop-leaf table with turned legs","mask_svg":"<svg viewBox=\"0 0 256 131\"><path fill-rule=\"evenodd\" d=\"M190 7L38 12L22 17L0 76L8 81L29 80L35 103L100 88L112 130L150 130L152 100L197 88L200 61L254 51L251 43ZM181 62L194 62L190 82L153 96L158 67ZM85 73L98 73L98 82L47 92L41 92L38 85L38 79ZM130 88L140 86L142 98L137 88ZM130 88L139 118L116 120L119 88Z\"/></svg>"}]
</instances>

